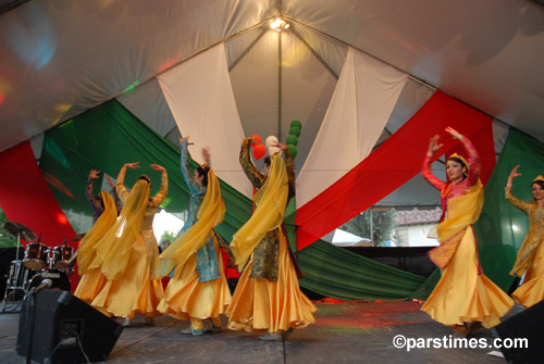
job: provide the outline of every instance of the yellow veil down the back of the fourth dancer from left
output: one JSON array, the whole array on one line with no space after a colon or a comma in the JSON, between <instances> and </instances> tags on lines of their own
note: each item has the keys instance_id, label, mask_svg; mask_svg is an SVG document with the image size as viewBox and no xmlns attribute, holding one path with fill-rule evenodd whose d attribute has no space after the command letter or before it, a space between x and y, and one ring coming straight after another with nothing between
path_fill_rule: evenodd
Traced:
<instances>
[{"instance_id":1,"label":"yellow veil down the back of the fourth dancer from left","mask_svg":"<svg viewBox=\"0 0 544 364\"><path fill-rule=\"evenodd\" d=\"M254 197L257 209L248 222L233 236L230 244L238 271L244 268L254 249L267 233L282 224L288 190L285 162L281 156L272 155L267 180Z\"/></svg>"}]
</instances>

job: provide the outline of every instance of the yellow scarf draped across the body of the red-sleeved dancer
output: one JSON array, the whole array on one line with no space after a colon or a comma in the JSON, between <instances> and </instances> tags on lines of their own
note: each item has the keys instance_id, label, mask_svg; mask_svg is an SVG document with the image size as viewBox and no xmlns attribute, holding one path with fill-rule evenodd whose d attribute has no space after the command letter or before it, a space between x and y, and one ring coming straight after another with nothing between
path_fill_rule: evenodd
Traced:
<instances>
[{"instance_id":1,"label":"yellow scarf draped across the body of the red-sleeved dancer","mask_svg":"<svg viewBox=\"0 0 544 364\"><path fill-rule=\"evenodd\" d=\"M465 194L447 201L447 217L436 227L441 244L428 253L438 268L444 269L449 263L461 241L462 233L478 221L482 206L483 187L480 179Z\"/></svg>"}]
</instances>

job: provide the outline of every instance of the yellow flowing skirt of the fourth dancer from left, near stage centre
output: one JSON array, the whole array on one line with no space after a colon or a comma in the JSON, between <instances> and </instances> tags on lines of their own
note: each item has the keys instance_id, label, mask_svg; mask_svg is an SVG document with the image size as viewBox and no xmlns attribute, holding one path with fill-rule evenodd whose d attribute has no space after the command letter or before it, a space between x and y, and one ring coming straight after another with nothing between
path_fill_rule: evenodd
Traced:
<instances>
[{"instance_id":1,"label":"yellow flowing skirt of the fourth dancer from left, near stage centre","mask_svg":"<svg viewBox=\"0 0 544 364\"><path fill-rule=\"evenodd\" d=\"M233 302L226 310L230 329L279 332L313 324L317 307L300 291L287 249L285 236L280 234L277 281L250 278L252 262L249 262L238 280Z\"/></svg>"}]
</instances>

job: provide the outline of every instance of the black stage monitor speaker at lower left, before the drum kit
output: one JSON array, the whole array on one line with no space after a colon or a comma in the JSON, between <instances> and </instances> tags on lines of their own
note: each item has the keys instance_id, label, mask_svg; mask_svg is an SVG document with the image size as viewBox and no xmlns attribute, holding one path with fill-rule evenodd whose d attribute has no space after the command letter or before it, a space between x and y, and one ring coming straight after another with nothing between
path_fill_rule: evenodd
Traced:
<instances>
[{"instance_id":1,"label":"black stage monitor speaker at lower left, before the drum kit","mask_svg":"<svg viewBox=\"0 0 544 364\"><path fill-rule=\"evenodd\" d=\"M123 326L70 292L45 289L36 294L32 359L46 364L106 361ZM16 350L27 355L32 305L23 301ZM85 354L84 354L85 353ZM85 357L87 356L87 357Z\"/></svg>"}]
</instances>

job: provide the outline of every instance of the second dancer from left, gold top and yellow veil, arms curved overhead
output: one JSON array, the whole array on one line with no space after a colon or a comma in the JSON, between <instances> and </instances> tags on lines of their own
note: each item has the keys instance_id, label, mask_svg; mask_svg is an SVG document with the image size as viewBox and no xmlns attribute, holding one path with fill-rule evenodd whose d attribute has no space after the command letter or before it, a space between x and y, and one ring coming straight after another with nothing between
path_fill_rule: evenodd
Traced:
<instances>
[{"instance_id":1,"label":"second dancer from left, gold top and yellow veil, arms curved overhead","mask_svg":"<svg viewBox=\"0 0 544 364\"><path fill-rule=\"evenodd\" d=\"M96 246L97 258L91 267L100 266L108 283L92 301L92 306L108 315L125 317L124 325L136 313L145 315L148 325L159 315L157 305L162 299L162 285L154 275L159 255L153 235L153 217L168 193L164 167L151 164L162 173L162 184L154 197L149 197L151 180L141 175L131 192L124 186L126 168L138 168L139 162L126 163L118 176L116 189L124 202L116 223Z\"/></svg>"}]
</instances>

